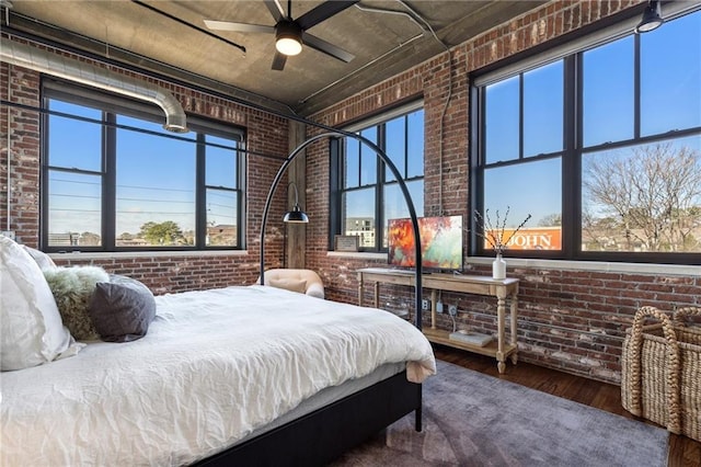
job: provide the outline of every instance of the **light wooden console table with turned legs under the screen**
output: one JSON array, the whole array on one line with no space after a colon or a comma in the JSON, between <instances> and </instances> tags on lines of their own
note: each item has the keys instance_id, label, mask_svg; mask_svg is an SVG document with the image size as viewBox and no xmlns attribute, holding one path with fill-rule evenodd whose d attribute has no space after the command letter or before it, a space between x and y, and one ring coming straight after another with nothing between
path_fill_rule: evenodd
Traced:
<instances>
[{"instance_id":1,"label":"light wooden console table with turned legs under the screen","mask_svg":"<svg viewBox=\"0 0 701 467\"><path fill-rule=\"evenodd\" d=\"M365 284L375 284L375 307L380 299L380 284L414 285L414 272L382 267L367 267L357 271L358 274L358 305L363 306L363 292ZM516 364L518 355L518 343L516 341L516 319L518 309L518 280L505 278L494 280L486 276L461 275L461 274L424 274L422 276L424 288L430 289L430 328L423 332L430 342L450 345L457 349L475 352L482 355L493 356L497 361L499 373L506 371L506 358L510 356L512 363ZM449 339L449 331L436 329L436 292L458 292L462 294L483 295L496 297L496 342L492 341L484 346L470 344L467 342ZM505 335L505 315L507 301L509 301L510 315L510 339L507 342ZM421 312L417 310L416 312Z\"/></svg>"}]
</instances>

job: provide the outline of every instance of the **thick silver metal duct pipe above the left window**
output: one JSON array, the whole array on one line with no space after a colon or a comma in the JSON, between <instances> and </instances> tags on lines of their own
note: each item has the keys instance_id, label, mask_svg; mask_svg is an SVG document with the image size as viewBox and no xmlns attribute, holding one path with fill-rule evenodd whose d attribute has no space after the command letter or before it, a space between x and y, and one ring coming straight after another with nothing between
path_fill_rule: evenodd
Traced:
<instances>
[{"instance_id":1,"label":"thick silver metal duct pipe above the left window","mask_svg":"<svg viewBox=\"0 0 701 467\"><path fill-rule=\"evenodd\" d=\"M187 133L186 116L173 94L163 88L136 78L118 75L105 68L56 55L46 49L0 41L0 60L55 77L77 81L141 101L152 102L165 112L163 128L173 133Z\"/></svg>"}]
</instances>

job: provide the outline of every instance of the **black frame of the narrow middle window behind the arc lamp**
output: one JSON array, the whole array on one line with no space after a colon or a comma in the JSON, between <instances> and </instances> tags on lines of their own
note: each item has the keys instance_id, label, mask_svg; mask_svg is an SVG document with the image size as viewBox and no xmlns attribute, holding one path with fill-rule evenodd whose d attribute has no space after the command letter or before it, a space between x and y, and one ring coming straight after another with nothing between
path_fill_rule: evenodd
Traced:
<instances>
[{"instance_id":1,"label":"black frame of the narrow middle window behind the arc lamp","mask_svg":"<svg viewBox=\"0 0 701 467\"><path fill-rule=\"evenodd\" d=\"M399 105L392 110L381 112L372 117L365 118L358 123L348 125L343 128L346 132L352 133L360 133L363 130L369 128L377 129L377 146L386 150L387 149L387 133L386 133L386 124L394 118L405 117L414 112L424 110L424 101L415 100L402 105ZM407 129L407 128L406 128ZM425 117L424 125L422 130L424 134L422 135L422 140L425 140ZM404 176L402 181L405 183L422 181L425 180L425 152L424 147L421 148L422 153L424 153L424 167L422 168L422 174L418 176L406 176L409 173L409 133L404 134L405 145L404 145ZM353 186L350 189L345 187L345 138L332 138L329 143L330 147L330 216L329 216L329 250L334 250L335 244L335 236L336 235L345 235L345 220L346 217L343 210L343 198L344 194L347 192L358 191L358 190L367 190L372 187L375 191L375 247L359 247L358 251L361 252L370 252L370 253L382 253L387 252L387 247L382 244L382 239L384 236L384 224L387 219L384 219L384 190L388 186L398 186L399 182L394 179L393 174L387 169L386 164L382 160L376 155L375 157L375 183L359 184L357 186ZM360 147L363 145L360 144ZM359 161L360 162L360 161ZM391 178L392 180L387 180L387 178ZM359 179L361 179L361 174L359 174ZM423 213L424 206L414 206L417 212Z\"/></svg>"}]
</instances>

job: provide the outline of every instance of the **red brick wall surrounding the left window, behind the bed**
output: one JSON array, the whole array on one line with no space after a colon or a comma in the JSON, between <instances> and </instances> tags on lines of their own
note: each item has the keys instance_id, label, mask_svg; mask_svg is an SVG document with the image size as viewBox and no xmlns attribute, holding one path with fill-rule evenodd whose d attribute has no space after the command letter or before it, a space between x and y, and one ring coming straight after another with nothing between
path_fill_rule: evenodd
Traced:
<instances>
[{"instance_id":1,"label":"red brick wall surrounding the left window, behind the bed","mask_svg":"<svg viewBox=\"0 0 701 467\"><path fill-rule=\"evenodd\" d=\"M113 68L113 71L140 78L137 73L117 68ZM2 77L0 95L3 100L32 107L39 105L38 72L2 62L0 76ZM255 282L258 276L258 234L263 206L273 178L288 152L287 119L192 89L150 78L149 81L172 92L189 115L202 115L244 126L248 149L273 156L263 157L254 153L248 157L246 252L222 255L165 254L153 258L82 253L81 257L78 253L69 253L65 258L55 258L56 262L59 265L100 265L111 273L136 277L157 294ZM9 95L5 84L8 82L10 83ZM9 132L8 114L10 115ZM0 133L3 138L0 152L0 229L14 230L18 241L31 247L36 247L39 238L39 116L36 111L4 105L0 112ZM10 184L9 216L8 184ZM281 219L284 200L284 190L278 190L266 229L268 267L279 265L283 258L283 223L276 219Z\"/></svg>"}]
</instances>

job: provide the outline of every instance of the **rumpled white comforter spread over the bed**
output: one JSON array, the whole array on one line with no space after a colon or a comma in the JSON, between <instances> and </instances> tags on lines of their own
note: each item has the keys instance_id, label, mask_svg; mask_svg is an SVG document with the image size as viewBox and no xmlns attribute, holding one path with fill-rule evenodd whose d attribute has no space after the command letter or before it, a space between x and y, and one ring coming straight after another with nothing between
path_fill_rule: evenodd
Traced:
<instances>
[{"instance_id":1,"label":"rumpled white comforter spread over the bed","mask_svg":"<svg viewBox=\"0 0 701 467\"><path fill-rule=\"evenodd\" d=\"M0 465L188 464L383 363L435 373L423 334L377 309L264 286L157 304L141 340L2 373Z\"/></svg>"}]
</instances>

